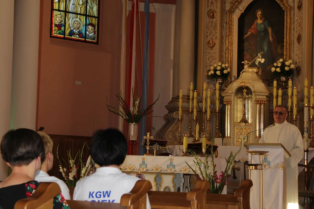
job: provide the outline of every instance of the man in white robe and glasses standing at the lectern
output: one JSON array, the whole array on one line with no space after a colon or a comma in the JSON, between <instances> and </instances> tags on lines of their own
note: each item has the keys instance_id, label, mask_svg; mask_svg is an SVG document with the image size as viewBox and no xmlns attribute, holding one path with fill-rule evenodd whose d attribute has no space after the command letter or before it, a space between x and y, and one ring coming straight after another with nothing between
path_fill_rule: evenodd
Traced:
<instances>
[{"instance_id":1,"label":"man in white robe and glasses standing at the lectern","mask_svg":"<svg viewBox=\"0 0 314 209\"><path fill-rule=\"evenodd\" d=\"M273 111L275 123L265 128L259 143L281 143L291 154L287 159L287 204L298 203L298 163L304 154L303 138L300 130L286 121L287 108L278 105ZM274 182L275 183L275 182Z\"/></svg>"}]
</instances>

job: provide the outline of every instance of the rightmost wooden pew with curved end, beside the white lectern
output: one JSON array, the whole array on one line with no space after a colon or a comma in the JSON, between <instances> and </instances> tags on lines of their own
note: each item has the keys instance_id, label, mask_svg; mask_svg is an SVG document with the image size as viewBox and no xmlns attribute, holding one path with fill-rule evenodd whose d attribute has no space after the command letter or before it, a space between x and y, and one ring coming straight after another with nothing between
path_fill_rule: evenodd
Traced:
<instances>
[{"instance_id":1,"label":"rightmost wooden pew with curved end, beside the white lectern","mask_svg":"<svg viewBox=\"0 0 314 209\"><path fill-rule=\"evenodd\" d=\"M236 189L234 195L207 194L206 205L209 209L249 209L250 189L253 186L252 180L245 179L241 182L240 188Z\"/></svg>"}]
</instances>

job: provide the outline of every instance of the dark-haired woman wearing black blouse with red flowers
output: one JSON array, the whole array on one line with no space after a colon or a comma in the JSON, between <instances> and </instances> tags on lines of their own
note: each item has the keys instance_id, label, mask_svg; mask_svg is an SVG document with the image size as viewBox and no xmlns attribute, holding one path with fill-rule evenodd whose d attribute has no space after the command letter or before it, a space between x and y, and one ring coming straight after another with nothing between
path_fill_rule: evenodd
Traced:
<instances>
[{"instance_id":1,"label":"dark-haired woman wearing black blouse with red flowers","mask_svg":"<svg viewBox=\"0 0 314 209\"><path fill-rule=\"evenodd\" d=\"M14 208L17 201L30 197L39 186L34 176L45 160L44 143L35 131L19 128L4 134L0 150L4 161L12 168L11 175L0 182L0 205ZM61 194L54 198L53 208L69 208Z\"/></svg>"}]
</instances>

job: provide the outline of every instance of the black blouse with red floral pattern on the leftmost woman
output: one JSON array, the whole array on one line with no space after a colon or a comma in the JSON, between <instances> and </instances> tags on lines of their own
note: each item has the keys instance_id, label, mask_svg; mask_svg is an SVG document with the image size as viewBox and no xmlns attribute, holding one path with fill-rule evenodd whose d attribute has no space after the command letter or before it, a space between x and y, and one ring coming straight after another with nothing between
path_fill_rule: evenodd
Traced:
<instances>
[{"instance_id":1,"label":"black blouse with red floral pattern on the leftmost woman","mask_svg":"<svg viewBox=\"0 0 314 209\"><path fill-rule=\"evenodd\" d=\"M32 196L39 184L38 181L32 180L23 184L0 188L0 208L14 208L17 201ZM70 209L62 194L53 198L53 209Z\"/></svg>"}]
</instances>

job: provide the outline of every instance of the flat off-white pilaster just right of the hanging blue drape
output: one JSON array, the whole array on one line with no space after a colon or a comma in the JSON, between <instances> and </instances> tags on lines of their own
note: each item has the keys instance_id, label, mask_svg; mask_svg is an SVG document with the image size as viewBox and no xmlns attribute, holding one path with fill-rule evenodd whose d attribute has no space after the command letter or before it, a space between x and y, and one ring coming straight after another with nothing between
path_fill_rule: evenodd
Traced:
<instances>
[{"instance_id":1,"label":"flat off-white pilaster just right of the hanging blue drape","mask_svg":"<svg viewBox=\"0 0 314 209\"><path fill-rule=\"evenodd\" d=\"M160 94L158 105L154 106L153 127L159 130L165 123L163 117L168 113L171 90L171 69L173 68L173 40L175 28L175 5L153 3L156 11L156 39L155 39L155 71L154 71L154 101ZM176 79L178 77L176 76ZM177 88L176 88L177 89ZM176 96L174 94L173 96ZM153 131L153 135L155 131ZM161 137L161 139L165 139Z\"/></svg>"}]
</instances>

